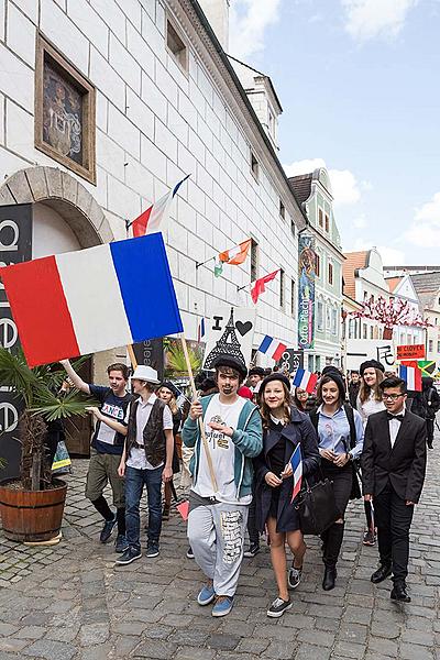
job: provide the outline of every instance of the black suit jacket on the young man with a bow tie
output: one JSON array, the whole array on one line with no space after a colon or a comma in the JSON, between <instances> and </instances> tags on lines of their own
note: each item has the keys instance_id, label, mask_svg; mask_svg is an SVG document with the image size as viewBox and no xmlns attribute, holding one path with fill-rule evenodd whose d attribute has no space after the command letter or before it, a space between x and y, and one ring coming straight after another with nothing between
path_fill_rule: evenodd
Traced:
<instances>
[{"instance_id":1,"label":"black suit jacket on the young man with a bow tie","mask_svg":"<svg viewBox=\"0 0 440 660\"><path fill-rule=\"evenodd\" d=\"M392 448L386 410L369 417L361 459L364 494L378 495L388 483L399 497L417 503L426 472L426 422L406 411Z\"/></svg>"}]
</instances>

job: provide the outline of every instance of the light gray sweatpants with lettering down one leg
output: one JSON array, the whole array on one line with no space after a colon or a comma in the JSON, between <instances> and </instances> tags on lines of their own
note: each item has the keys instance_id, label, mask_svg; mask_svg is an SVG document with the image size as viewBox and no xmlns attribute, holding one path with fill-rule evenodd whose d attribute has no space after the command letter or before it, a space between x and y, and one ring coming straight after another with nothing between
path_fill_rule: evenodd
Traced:
<instances>
[{"instance_id":1,"label":"light gray sweatpants with lettering down one leg","mask_svg":"<svg viewBox=\"0 0 440 660\"><path fill-rule=\"evenodd\" d=\"M188 516L188 539L194 558L213 581L218 596L233 596L243 559L248 506L219 502L194 508Z\"/></svg>"}]
</instances>

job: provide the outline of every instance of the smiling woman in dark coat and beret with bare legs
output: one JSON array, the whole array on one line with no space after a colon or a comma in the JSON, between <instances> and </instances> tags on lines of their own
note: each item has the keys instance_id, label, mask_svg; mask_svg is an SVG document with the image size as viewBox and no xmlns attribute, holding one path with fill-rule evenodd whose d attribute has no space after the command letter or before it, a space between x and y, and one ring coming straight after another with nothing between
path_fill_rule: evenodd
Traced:
<instances>
[{"instance_id":1,"label":"smiling woman in dark coat and beret with bare legs","mask_svg":"<svg viewBox=\"0 0 440 660\"><path fill-rule=\"evenodd\" d=\"M263 451L254 460L256 525L263 531L267 526L271 539L271 561L278 586L278 597L267 616L279 617L290 609L287 584L285 542L295 557L289 571L289 585L298 586L306 552L299 516L292 502L294 477L290 458L298 443L301 446L302 475L319 466L318 438L309 418L290 407L290 384L286 376L273 373L261 384L261 416L263 419Z\"/></svg>"}]
</instances>

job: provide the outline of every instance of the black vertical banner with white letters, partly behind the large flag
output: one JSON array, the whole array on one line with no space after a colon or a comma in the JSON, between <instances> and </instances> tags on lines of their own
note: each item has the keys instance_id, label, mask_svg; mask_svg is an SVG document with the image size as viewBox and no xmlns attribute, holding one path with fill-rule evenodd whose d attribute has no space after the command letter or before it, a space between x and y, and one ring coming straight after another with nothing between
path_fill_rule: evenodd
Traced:
<instances>
[{"instance_id":1,"label":"black vertical banner with white letters, partly behind the large flag","mask_svg":"<svg viewBox=\"0 0 440 660\"><path fill-rule=\"evenodd\" d=\"M32 258L32 205L0 206L0 267ZM13 351L20 344L4 287L0 280L0 345ZM20 465L18 436L22 402L0 387L0 455L6 469L0 479L16 476Z\"/></svg>"}]
</instances>

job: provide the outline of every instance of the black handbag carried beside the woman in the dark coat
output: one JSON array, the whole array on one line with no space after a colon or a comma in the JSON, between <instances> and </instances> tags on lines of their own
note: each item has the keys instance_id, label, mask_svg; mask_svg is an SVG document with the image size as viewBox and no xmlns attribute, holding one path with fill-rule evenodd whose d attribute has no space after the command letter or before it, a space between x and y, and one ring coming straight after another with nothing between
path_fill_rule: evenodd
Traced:
<instances>
[{"instance_id":1,"label":"black handbag carried beside the woman in the dark coat","mask_svg":"<svg viewBox=\"0 0 440 660\"><path fill-rule=\"evenodd\" d=\"M305 483L306 490L299 493L296 504L300 529L302 534L319 536L341 517L334 499L333 483L328 479L311 487L306 480Z\"/></svg>"}]
</instances>

